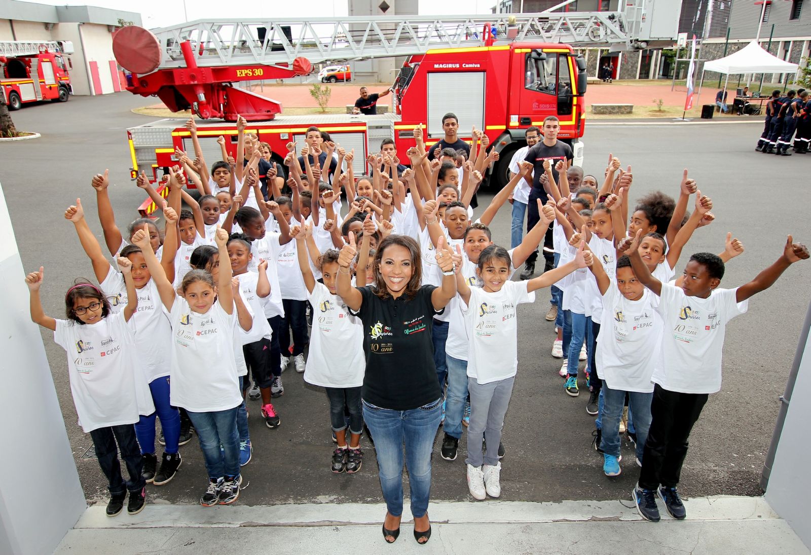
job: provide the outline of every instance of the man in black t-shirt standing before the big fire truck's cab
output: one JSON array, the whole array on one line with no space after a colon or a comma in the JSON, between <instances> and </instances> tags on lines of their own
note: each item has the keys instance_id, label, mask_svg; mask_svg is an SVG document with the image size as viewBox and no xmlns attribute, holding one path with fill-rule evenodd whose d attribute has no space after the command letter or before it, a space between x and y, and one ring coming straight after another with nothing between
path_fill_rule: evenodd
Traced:
<instances>
[{"instance_id":1,"label":"man in black t-shirt standing before the big fire truck's cab","mask_svg":"<svg viewBox=\"0 0 811 555\"><path fill-rule=\"evenodd\" d=\"M572 160L574 159L574 153L572 152L572 147L569 144L563 143L560 140L557 140L557 134L560 131L560 120L555 116L548 116L546 119L543 120L543 129L541 132L543 133L543 140L540 141L538 144L535 144L534 147L530 148L529 151L526 153L526 161L530 162L534 169L532 170L532 189L530 190L530 203L527 205L527 215L526 215L526 232L529 233L530 230L537 224L541 217L538 212L538 203L536 202L538 199L546 201L547 190L543 183L541 183L541 176L544 174L543 170L543 161L548 160L552 166L552 177L555 179L555 182L558 183L558 172L555 170L555 165L558 161L562 160L566 164L566 168L572 165ZM529 180L529 175L526 176L526 179ZM546 260L546 266L544 271L547 269L551 269L554 265L554 250L552 248L552 237L551 237L551 226L547 230L547 234L543 240L543 257ZM533 252L529 258L526 259L526 265L524 266L524 271L521 272L521 279L530 279L532 274L535 273L535 260L538 259L538 251Z\"/></svg>"}]
</instances>

